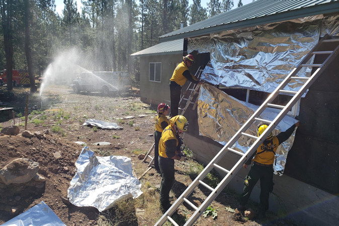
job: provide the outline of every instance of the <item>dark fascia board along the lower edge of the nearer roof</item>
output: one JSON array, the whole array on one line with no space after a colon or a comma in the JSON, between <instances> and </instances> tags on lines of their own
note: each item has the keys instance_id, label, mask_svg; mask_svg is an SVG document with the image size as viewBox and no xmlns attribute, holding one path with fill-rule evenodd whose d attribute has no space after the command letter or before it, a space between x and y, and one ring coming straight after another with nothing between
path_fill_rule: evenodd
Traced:
<instances>
[{"instance_id":1,"label":"dark fascia board along the lower edge of the nearer roof","mask_svg":"<svg viewBox=\"0 0 339 226\"><path fill-rule=\"evenodd\" d=\"M319 14L330 14L330 13L335 13L335 12L339 12L339 2L288 11L285 13L274 14L274 15L264 16L260 18L250 19L250 20L244 20L244 21L235 22L231 24L224 24L220 26L204 28L204 29L200 29L197 31L191 31L191 32L186 32L186 33L172 35L172 36L160 36L159 41L166 42L166 41L171 41L175 39L197 37L197 36L208 35L208 34L220 32L220 31L227 31L231 29L246 28L246 27L251 27L251 26L256 26L256 25L287 21L287 20L292 20L296 18L314 16L314 15L319 15Z\"/></svg>"}]
</instances>

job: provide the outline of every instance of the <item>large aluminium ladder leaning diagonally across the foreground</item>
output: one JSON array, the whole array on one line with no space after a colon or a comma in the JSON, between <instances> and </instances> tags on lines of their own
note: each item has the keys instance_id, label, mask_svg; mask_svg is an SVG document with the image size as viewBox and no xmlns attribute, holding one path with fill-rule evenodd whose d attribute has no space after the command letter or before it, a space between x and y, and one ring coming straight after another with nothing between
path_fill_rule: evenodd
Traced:
<instances>
[{"instance_id":1,"label":"large aluminium ladder leaning diagonally across the foreground","mask_svg":"<svg viewBox=\"0 0 339 226\"><path fill-rule=\"evenodd\" d=\"M334 32L334 31L333 31ZM331 34L333 33L331 32ZM331 35L330 34L330 35ZM211 162L204 168L204 170L195 178L195 180L187 187L187 189L180 195L180 197L173 203L173 205L161 216L161 218L155 223L155 225L162 225L166 220L169 220L174 225L178 225L171 215L179 208L183 202L186 202L191 206L195 211L191 217L187 220L184 225L192 225L198 219L198 217L205 211L205 209L210 205L210 203L218 196L222 189L229 183L233 176L241 169L243 163L248 157L250 157L260 144L267 138L267 136L273 131L273 129L279 124L279 122L286 116L289 109L301 98L302 94L313 84L313 82L319 77L319 75L324 71L324 69L335 59L339 52L339 45L336 45L336 48L333 51L321 51L320 47L324 43L335 42L339 44L338 38L332 38L329 35L324 36L315 47L303 58L303 60L294 68L290 74L283 80L281 84L275 89L273 93L264 101L264 103L256 110L256 112L247 120L247 122L239 129L238 132L227 142L227 144L219 151L219 153L211 160ZM326 54L328 57L322 64L307 64L308 60L311 59L313 55L317 54ZM317 67L314 73L310 77L297 77L298 71L303 67ZM300 80L305 83L301 86L298 91L285 90L284 87L288 85L291 80ZM278 96L279 93L289 94L293 97L287 103L287 105L278 105L272 104L271 102ZM274 107L281 109L280 113L273 121L261 119L260 115L267 107ZM252 136L246 134L245 131L255 122L264 122L269 125L269 127L264 131L260 137ZM255 140L255 142L249 147L245 152L238 152L232 149L233 144L241 137L249 137ZM217 165L221 158L225 155L227 151L230 151L234 154L239 155L241 158L239 161L230 169L224 169L223 167ZM226 173L226 176L220 181L220 183L215 187L210 187L208 184L203 182L205 176L213 169L218 169ZM188 200L188 196L192 191L199 185L203 185L211 191L208 197L200 206L196 206L191 201Z\"/></svg>"}]
</instances>

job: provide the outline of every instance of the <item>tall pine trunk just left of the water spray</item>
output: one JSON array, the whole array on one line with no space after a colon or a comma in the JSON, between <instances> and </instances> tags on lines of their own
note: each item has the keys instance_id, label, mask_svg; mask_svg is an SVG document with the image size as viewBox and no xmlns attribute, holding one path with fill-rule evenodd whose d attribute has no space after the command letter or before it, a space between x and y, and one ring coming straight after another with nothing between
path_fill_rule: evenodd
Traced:
<instances>
[{"instance_id":1,"label":"tall pine trunk just left of the water spray","mask_svg":"<svg viewBox=\"0 0 339 226\"><path fill-rule=\"evenodd\" d=\"M25 51L26 51L26 60L28 67L28 75L30 78L30 87L31 92L37 91L35 86L35 78L33 73L33 61L32 61L32 51L31 51L31 40L30 40L30 21L31 21L31 13L30 13L30 3L29 0L24 0L25 7Z\"/></svg>"}]
</instances>

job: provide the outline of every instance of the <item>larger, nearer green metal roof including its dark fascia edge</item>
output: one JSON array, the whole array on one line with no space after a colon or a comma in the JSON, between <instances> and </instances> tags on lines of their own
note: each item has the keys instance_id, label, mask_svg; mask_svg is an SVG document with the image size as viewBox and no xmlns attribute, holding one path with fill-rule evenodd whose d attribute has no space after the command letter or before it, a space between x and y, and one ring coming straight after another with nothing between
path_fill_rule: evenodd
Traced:
<instances>
[{"instance_id":1,"label":"larger, nearer green metal roof including its dark fascia edge","mask_svg":"<svg viewBox=\"0 0 339 226\"><path fill-rule=\"evenodd\" d=\"M160 41L329 13L339 13L339 0L258 0L162 35Z\"/></svg>"}]
</instances>

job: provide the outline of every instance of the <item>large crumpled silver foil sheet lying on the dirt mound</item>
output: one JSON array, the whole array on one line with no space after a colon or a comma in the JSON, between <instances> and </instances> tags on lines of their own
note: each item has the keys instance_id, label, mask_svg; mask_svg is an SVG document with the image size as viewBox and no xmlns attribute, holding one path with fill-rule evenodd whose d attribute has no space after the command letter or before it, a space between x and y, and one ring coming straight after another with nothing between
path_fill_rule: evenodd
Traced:
<instances>
[{"instance_id":1,"label":"large crumpled silver foil sheet lying on the dirt mound","mask_svg":"<svg viewBox=\"0 0 339 226\"><path fill-rule=\"evenodd\" d=\"M100 212L118 200L142 194L133 176L131 159L124 156L95 156L84 147L76 160L77 172L70 181L68 199L76 206L93 206Z\"/></svg>"}]
</instances>

